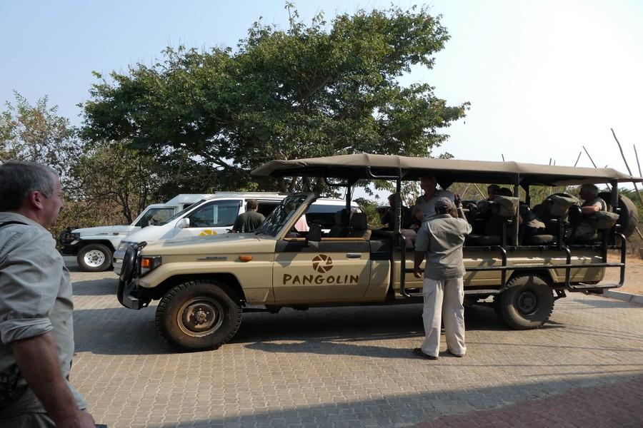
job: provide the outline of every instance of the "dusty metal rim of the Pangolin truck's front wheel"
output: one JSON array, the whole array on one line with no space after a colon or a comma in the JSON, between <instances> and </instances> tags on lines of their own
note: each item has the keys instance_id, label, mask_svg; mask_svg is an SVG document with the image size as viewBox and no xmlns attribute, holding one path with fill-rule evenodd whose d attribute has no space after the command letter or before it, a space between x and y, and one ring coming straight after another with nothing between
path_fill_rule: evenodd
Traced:
<instances>
[{"instance_id":1,"label":"dusty metal rim of the Pangolin truck's front wheel","mask_svg":"<svg viewBox=\"0 0 643 428\"><path fill-rule=\"evenodd\" d=\"M223 324L224 310L210 297L195 297L179 308L176 322L186 335L204 337L219 330Z\"/></svg>"}]
</instances>

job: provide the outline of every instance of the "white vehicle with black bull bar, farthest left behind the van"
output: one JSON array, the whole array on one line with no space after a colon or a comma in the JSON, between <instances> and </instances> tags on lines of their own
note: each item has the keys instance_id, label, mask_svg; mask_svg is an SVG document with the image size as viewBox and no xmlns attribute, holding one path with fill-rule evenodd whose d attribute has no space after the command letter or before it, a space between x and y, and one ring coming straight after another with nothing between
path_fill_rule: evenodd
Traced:
<instances>
[{"instance_id":1,"label":"white vehicle with black bull bar, farthest left behind the van","mask_svg":"<svg viewBox=\"0 0 643 428\"><path fill-rule=\"evenodd\" d=\"M121 240L150 224L162 223L172 215L190 205L211 198L214 193L183 193L166 203L148 205L131 225L98 226L71 230L67 228L59 235L61 253L75 255L84 272L101 272L111 267L111 253L119 248Z\"/></svg>"}]
</instances>

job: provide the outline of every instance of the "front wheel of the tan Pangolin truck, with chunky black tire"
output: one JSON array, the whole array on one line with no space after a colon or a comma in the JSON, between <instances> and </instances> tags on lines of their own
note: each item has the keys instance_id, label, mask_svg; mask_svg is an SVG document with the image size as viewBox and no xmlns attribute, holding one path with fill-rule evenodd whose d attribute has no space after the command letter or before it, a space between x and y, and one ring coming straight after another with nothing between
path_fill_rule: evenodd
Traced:
<instances>
[{"instance_id":1,"label":"front wheel of the tan Pangolin truck, with chunky black tire","mask_svg":"<svg viewBox=\"0 0 643 428\"><path fill-rule=\"evenodd\" d=\"M242 315L241 303L229 287L196 280L164 295L156 308L156 329L178 350L216 350L234 337Z\"/></svg>"}]
</instances>

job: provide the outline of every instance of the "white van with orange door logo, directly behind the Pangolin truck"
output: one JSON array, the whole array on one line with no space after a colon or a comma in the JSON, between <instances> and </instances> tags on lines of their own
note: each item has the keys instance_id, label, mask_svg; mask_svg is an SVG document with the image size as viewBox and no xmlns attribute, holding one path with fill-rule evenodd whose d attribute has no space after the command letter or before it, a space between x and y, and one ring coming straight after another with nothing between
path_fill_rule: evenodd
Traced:
<instances>
[{"instance_id":1,"label":"white van with orange door logo, directly behind the Pangolin truck","mask_svg":"<svg viewBox=\"0 0 643 428\"><path fill-rule=\"evenodd\" d=\"M186 210L176 213L163 223L150 225L122 240L114 253L114 272L116 275L120 275L125 250L132 243L142 241L149 243L151 241L228 233L237 215L245 212L249 199L256 199L259 202L259 213L267 217L284 198L286 195L278 193L229 193L228 195L219 193L214 198L202 200ZM318 224L322 229L328 230L335 223L335 213L342 208L346 208L346 201L342 199L319 198L306 212L306 223L308 225ZM352 203L352 210L359 210L356 203Z\"/></svg>"}]
</instances>

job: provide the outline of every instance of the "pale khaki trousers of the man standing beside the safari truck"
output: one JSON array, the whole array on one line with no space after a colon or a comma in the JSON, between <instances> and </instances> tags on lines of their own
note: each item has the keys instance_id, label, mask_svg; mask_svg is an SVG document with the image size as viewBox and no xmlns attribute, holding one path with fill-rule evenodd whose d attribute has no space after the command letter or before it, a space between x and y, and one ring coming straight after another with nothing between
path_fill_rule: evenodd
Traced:
<instances>
[{"instance_id":1,"label":"pale khaki trousers of the man standing beside the safari truck","mask_svg":"<svg viewBox=\"0 0 643 428\"><path fill-rule=\"evenodd\" d=\"M464 355L464 281L429 280L424 278L422 288L424 297L424 342L422 351L437 357L440 352L440 324L444 319L444 334L447 336L447 349L455 355Z\"/></svg>"}]
</instances>

